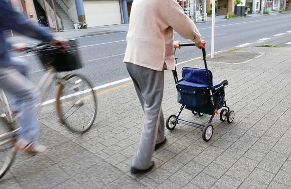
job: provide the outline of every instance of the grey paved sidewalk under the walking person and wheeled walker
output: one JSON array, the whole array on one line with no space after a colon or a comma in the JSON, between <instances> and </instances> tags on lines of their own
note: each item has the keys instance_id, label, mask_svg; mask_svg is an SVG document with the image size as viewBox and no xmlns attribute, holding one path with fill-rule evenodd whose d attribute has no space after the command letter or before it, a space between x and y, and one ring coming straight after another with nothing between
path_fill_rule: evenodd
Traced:
<instances>
[{"instance_id":1,"label":"grey paved sidewalk under the walking person and wheeled walker","mask_svg":"<svg viewBox=\"0 0 291 189\"><path fill-rule=\"evenodd\" d=\"M0 188L290 189L291 48L237 51L260 56L245 63L207 59L213 80L228 80L226 102L236 113L232 124L222 123L219 115L214 117L209 142L191 126L166 129L167 142L153 155L154 169L131 175L144 115L132 82L127 81L98 93L97 119L84 135L60 126L53 107L43 110L40 142L51 150L45 156L18 154L0 180ZM178 74L185 66L203 68L204 64L202 60L180 64ZM180 105L170 71L165 72L165 80L162 107L166 119ZM189 110L180 115L202 124L209 117Z\"/></svg>"}]
</instances>

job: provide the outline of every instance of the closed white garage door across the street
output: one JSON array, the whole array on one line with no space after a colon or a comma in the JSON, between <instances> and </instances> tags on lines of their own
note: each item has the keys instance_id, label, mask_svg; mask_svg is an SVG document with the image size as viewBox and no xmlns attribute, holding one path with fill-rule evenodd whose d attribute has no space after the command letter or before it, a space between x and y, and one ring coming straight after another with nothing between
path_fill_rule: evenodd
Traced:
<instances>
[{"instance_id":1,"label":"closed white garage door across the street","mask_svg":"<svg viewBox=\"0 0 291 189\"><path fill-rule=\"evenodd\" d=\"M119 0L83 1L88 27L121 24Z\"/></svg>"}]
</instances>

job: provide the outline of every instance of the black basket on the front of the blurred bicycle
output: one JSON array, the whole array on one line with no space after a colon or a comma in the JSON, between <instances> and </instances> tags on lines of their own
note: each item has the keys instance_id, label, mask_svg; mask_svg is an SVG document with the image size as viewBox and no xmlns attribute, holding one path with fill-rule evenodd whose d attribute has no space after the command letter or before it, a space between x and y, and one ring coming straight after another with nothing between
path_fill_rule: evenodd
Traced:
<instances>
[{"instance_id":1,"label":"black basket on the front of the blurred bicycle","mask_svg":"<svg viewBox=\"0 0 291 189\"><path fill-rule=\"evenodd\" d=\"M38 51L38 57L45 68L53 66L57 72L72 71L82 67L77 39L68 41L70 48L47 47Z\"/></svg>"}]
</instances>

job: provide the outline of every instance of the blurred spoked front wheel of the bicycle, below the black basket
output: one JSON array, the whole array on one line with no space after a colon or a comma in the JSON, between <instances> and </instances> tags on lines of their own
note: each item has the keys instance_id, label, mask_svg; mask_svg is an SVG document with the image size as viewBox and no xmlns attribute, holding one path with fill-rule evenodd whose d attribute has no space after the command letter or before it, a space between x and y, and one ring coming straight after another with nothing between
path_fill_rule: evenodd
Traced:
<instances>
[{"instance_id":1,"label":"blurred spoked front wheel of the bicycle, below the black basket","mask_svg":"<svg viewBox=\"0 0 291 189\"><path fill-rule=\"evenodd\" d=\"M89 130L97 114L97 97L91 83L78 74L65 76L57 89L56 109L60 121L71 131Z\"/></svg>"}]
</instances>

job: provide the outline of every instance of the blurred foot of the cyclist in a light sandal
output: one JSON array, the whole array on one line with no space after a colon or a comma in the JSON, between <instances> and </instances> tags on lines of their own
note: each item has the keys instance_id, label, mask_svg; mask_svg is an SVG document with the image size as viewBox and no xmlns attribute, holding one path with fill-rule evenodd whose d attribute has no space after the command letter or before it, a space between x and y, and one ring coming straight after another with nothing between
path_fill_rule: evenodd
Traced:
<instances>
[{"instance_id":1,"label":"blurred foot of the cyclist in a light sandal","mask_svg":"<svg viewBox=\"0 0 291 189\"><path fill-rule=\"evenodd\" d=\"M49 148L44 145L36 145L34 142L29 142L23 138L17 140L14 144L15 151L22 151L31 154L46 154Z\"/></svg>"}]
</instances>

